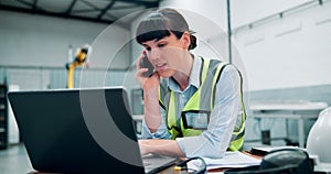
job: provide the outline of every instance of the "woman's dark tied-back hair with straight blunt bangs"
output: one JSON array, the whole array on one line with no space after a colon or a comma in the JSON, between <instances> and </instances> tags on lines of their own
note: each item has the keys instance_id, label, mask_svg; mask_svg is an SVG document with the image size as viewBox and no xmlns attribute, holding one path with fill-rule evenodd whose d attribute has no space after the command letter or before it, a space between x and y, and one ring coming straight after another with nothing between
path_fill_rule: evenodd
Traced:
<instances>
[{"instance_id":1,"label":"woman's dark tied-back hair with straight blunt bangs","mask_svg":"<svg viewBox=\"0 0 331 174\"><path fill-rule=\"evenodd\" d=\"M183 33L189 30L189 24L174 9L161 9L149 14L142 20L136 32L136 40L139 44L152 40L161 40L171 33L180 39ZM196 37L190 32L191 44L189 50L196 47Z\"/></svg>"}]
</instances>

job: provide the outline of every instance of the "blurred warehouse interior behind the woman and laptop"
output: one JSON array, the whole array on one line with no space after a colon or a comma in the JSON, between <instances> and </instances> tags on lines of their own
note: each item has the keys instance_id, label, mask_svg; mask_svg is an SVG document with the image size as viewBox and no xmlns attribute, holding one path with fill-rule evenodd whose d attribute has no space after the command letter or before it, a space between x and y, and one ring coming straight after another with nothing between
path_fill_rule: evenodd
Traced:
<instances>
[{"instance_id":1,"label":"blurred warehouse interior behind the woman and laptop","mask_svg":"<svg viewBox=\"0 0 331 174\"><path fill-rule=\"evenodd\" d=\"M136 28L168 7L195 32L194 55L241 70L244 149L307 148L311 128L331 105L330 0L0 0L0 173L33 171L9 91L66 89L70 80L74 89L124 86L139 132L143 99L135 73L143 47ZM68 64L86 45L86 62L70 76ZM275 112L264 109L270 106ZM305 118L307 110L311 117Z\"/></svg>"}]
</instances>

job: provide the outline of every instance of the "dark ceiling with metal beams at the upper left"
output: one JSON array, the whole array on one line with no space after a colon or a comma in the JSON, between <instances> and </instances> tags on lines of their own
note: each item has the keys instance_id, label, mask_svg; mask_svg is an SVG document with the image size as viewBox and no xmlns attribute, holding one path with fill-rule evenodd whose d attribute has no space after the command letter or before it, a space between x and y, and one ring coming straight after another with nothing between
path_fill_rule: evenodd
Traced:
<instances>
[{"instance_id":1,"label":"dark ceiling with metal beams at the upper left","mask_svg":"<svg viewBox=\"0 0 331 174\"><path fill-rule=\"evenodd\" d=\"M0 10L110 24L162 0L0 0Z\"/></svg>"}]
</instances>

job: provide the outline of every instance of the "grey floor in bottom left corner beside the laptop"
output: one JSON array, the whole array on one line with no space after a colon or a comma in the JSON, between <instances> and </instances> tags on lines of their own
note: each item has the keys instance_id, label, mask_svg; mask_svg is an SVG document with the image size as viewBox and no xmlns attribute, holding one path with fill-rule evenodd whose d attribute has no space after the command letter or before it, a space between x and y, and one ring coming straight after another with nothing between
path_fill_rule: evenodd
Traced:
<instances>
[{"instance_id":1,"label":"grey floor in bottom left corner beside the laptop","mask_svg":"<svg viewBox=\"0 0 331 174\"><path fill-rule=\"evenodd\" d=\"M0 150L0 173L1 174L28 174L33 168L23 144L10 145Z\"/></svg>"}]
</instances>

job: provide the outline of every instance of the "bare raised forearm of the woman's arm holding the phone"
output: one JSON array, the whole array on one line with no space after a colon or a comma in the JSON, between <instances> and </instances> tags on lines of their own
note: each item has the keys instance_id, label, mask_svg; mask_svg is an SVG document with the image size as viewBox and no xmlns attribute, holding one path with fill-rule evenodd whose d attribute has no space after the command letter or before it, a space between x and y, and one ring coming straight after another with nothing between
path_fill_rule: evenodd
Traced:
<instances>
[{"instance_id":1,"label":"bare raised forearm of the woman's arm holding the phone","mask_svg":"<svg viewBox=\"0 0 331 174\"><path fill-rule=\"evenodd\" d=\"M143 90L145 121L150 132L156 132L161 124L161 112L159 109L159 90L152 88Z\"/></svg>"}]
</instances>

